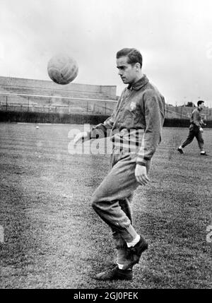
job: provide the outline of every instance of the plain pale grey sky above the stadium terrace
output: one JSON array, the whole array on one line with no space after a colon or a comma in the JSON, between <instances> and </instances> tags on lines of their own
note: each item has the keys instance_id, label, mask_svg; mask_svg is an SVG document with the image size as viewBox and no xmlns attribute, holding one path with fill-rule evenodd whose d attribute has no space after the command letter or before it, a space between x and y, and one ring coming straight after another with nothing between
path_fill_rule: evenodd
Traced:
<instances>
[{"instance_id":1,"label":"plain pale grey sky above the stadium terrace","mask_svg":"<svg viewBox=\"0 0 212 303\"><path fill-rule=\"evenodd\" d=\"M0 76L49 80L49 59L66 52L73 83L120 95L116 53L134 47L167 103L212 107L211 12L211 0L0 0Z\"/></svg>"}]
</instances>

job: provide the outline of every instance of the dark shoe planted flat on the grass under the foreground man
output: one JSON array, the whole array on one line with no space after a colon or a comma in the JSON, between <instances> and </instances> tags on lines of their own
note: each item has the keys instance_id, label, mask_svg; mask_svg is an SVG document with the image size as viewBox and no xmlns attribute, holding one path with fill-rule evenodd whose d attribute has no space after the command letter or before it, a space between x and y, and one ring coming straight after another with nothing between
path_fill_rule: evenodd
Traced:
<instances>
[{"instance_id":1,"label":"dark shoe planted flat on the grass under the foreground man","mask_svg":"<svg viewBox=\"0 0 212 303\"><path fill-rule=\"evenodd\" d=\"M110 271L98 273L95 278L97 280L132 280L133 272L132 269L123 271L122 269L119 269L118 266L116 266Z\"/></svg>"}]
</instances>

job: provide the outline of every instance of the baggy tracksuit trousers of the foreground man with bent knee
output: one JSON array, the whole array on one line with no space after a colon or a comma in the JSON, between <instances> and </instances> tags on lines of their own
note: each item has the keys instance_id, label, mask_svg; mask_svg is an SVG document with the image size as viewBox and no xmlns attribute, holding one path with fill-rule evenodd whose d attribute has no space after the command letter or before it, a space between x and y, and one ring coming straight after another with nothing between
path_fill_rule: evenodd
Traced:
<instances>
[{"instance_id":1,"label":"baggy tracksuit trousers of the foreground man with bent knee","mask_svg":"<svg viewBox=\"0 0 212 303\"><path fill-rule=\"evenodd\" d=\"M135 177L136 158L136 153L125 154L123 150L112 154L112 170L92 198L93 209L112 229L118 259L122 259L122 252L125 254L126 242L132 242L137 235L131 212L133 192L139 186Z\"/></svg>"}]
</instances>

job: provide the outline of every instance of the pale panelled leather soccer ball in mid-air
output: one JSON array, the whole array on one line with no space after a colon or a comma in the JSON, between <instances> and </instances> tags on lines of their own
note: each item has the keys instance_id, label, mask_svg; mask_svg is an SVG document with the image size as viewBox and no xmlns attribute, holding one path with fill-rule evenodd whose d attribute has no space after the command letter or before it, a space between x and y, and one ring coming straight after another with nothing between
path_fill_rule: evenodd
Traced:
<instances>
[{"instance_id":1,"label":"pale panelled leather soccer ball in mid-air","mask_svg":"<svg viewBox=\"0 0 212 303\"><path fill-rule=\"evenodd\" d=\"M67 54L57 54L49 60L47 71L55 83L69 84L78 75L78 64Z\"/></svg>"}]
</instances>

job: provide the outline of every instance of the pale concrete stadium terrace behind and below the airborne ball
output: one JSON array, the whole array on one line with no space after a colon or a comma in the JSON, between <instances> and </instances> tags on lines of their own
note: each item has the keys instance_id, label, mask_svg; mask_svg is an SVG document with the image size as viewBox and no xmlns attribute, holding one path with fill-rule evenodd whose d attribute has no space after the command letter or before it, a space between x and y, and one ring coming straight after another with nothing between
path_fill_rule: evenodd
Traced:
<instances>
[{"instance_id":1,"label":"pale concrete stadium terrace behind and below the airborne ball","mask_svg":"<svg viewBox=\"0 0 212 303\"><path fill-rule=\"evenodd\" d=\"M1 109L42 112L111 114L117 103L116 86L0 77Z\"/></svg>"}]
</instances>

